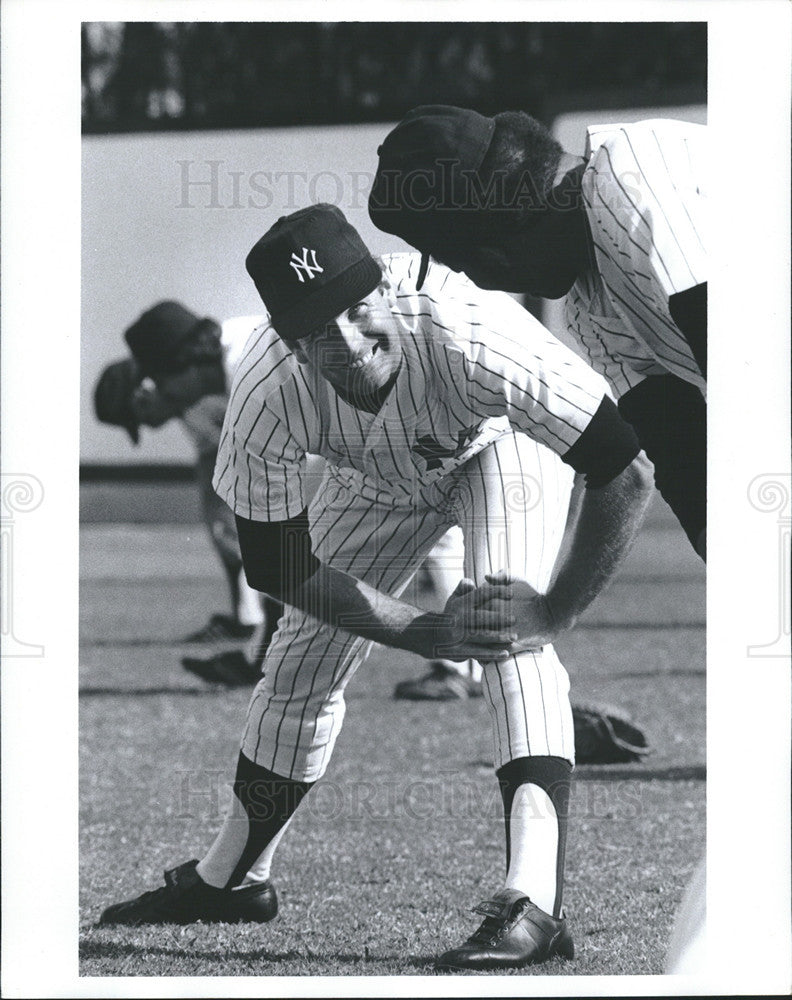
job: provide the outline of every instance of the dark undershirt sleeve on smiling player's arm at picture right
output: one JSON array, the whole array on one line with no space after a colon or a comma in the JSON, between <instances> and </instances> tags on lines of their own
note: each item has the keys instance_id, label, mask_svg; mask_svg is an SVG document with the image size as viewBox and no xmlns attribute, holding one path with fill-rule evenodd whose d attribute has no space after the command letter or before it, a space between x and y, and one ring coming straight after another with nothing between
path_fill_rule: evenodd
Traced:
<instances>
[{"instance_id":1,"label":"dark undershirt sleeve on smiling player's arm at picture right","mask_svg":"<svg viewBox=\"0 0 792 1000\"><path fill-rule=\"evenodd\" d=\"M635 431L608 396L561 460L586 477L586 489L605 486L623 472L641 450Z\"/></svg>"}]
</instances>

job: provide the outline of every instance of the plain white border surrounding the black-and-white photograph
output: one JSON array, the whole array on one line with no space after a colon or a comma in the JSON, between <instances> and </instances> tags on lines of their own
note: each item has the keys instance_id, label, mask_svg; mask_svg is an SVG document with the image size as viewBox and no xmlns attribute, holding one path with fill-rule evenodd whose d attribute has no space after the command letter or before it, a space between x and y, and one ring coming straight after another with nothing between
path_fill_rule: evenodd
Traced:
<instances>
[{"instance_id":1,"label":"plain white border surrounding the black-and-white photograph","mask_svg":"<svg viewBox=\"0 0 792 1000\"><path fill-rule=\"evenodd\" d=\"M19 634L42 658L3 666L3 992L127 996L77 966L80 22L369 20L370 4L6 0L2 6L3 473L40 482L15 525ZM383 22L481 20L481 4L383 2ZM707 587L707 975L138 978L135 996L753 995L789 990L788 658L772 638L782 534L752 506L769 475L789 503L790 7L784 0L493 2L488 20L706 20L715 261L710 282ZM384 25L387 30L387 25ZM57 86L53 87L53 81ZM772 525L772 527L771 527ZM18 529L18 530L17 530ZM774 617L775 616L775 617ZM42 801L52 823L37 810ZM265 985L266 984L266 985Z\"/></svg>"}]
</instances>

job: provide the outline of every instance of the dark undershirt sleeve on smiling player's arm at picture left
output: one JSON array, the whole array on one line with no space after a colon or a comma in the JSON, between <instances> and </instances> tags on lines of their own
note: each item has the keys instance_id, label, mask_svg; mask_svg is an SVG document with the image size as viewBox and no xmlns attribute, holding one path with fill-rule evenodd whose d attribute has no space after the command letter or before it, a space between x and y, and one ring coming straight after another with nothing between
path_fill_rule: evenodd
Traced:
<instances>
[{"instance_id":1,"label":"dark undershirt sleeve on smiling player's arm at picture left","mask_svg":"<svg viewBox=\"0 0 792 1000\"><path fill-rule=\"evenodd\" d=\"M319 568L307 509L288 521L249 521L237 514L236 524L245 577L254 590L288 601Z\"/></svg>"}]
</instances>

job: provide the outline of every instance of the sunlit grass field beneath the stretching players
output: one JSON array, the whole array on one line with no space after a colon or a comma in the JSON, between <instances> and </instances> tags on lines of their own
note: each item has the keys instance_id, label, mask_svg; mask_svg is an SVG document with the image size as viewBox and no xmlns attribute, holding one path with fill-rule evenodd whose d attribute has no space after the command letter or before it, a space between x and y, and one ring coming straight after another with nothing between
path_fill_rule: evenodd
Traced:
<instances>
[{"instance_id":1,"label":"sunlit grass field beneath the stretching players","mask_svg":"<svg viewBox=\"0 0 792 1000\"><path fill-rule=\"evenodd\" d=\"M392 700L422 665L384 649L353 681L328 774L279 849L276 921L95 926L108 903L208 847L248 692L202 686L179 664L179 636L225 601L200 525L86 525L81 576L81 974L433 974L503 876L489 721L480 699ZM703 567L658 502L619 578L559 643L573 701L622 706L654 753L578 768L566 889L577 955L519 974L662 972L704 848L704 608Z\"/></svg>"}]
</instances>

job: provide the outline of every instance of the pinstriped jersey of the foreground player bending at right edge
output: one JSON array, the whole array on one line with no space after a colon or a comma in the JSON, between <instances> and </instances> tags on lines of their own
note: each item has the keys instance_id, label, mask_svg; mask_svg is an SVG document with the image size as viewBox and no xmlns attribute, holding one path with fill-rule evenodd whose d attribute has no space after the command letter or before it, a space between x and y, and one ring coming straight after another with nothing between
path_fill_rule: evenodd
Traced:
<instances>
[{"instance_id":1,"label":"pinstriped jersey of the foreground player bending at right edge","mask_svg":"<svg viewBox=\"0 0 792 1000\"><path fill-rule=\"evenodd\" d=\"M668 300L707 280L706 128L657 119L587 132L596 266L567 295L569 332L617 397L668 372L704 392Z\"/></svg>"}]
</instances>

